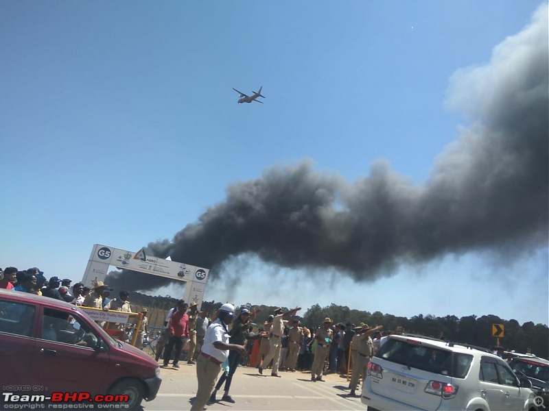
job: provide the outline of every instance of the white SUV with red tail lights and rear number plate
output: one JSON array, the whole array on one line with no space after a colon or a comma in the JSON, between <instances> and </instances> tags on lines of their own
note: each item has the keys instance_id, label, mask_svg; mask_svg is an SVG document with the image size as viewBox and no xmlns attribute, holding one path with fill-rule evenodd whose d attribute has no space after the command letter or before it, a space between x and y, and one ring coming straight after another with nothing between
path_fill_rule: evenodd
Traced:
<instances>
[{"instance_id":1,"label":"white SUV with red tail lights and rear number plate","mask_svg":"<svg viewBox=\"0 0 549 411\"><path fill-rule=\"evenodd\" d=\"M369 411L536 411L530 386L487 349L394 335L368 365L361 399Z\"/></svg>"}]
</instances>

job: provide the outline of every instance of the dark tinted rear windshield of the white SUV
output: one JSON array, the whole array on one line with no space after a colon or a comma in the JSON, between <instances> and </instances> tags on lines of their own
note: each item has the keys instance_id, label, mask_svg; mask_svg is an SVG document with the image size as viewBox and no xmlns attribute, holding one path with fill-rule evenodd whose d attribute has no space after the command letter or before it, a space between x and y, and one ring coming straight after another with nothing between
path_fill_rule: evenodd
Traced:
<instances>
[{"instance_id":1,"label":"dark tinted rear windshield of the white SUV","mask_svg":"<svg viewBox=\"0 0 549 411\"><path fill-rule=\"evenodd\" d=\"M454 353L410 340L401 341L393 338L382 345L375 356L410 368L456 378L465 378L473 360L473 356L469 354Z\"/></svg>"}]
</instances>

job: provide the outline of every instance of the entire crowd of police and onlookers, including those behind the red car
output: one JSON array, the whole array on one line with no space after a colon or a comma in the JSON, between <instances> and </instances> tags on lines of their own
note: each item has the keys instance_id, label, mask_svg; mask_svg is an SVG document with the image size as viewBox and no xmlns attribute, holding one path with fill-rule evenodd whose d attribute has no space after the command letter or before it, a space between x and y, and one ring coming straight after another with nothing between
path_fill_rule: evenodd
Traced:
<instances>
[{"instance_id":1,"label":"entire crowd of police and onlookers, including those behind the red car","mask_svg":"<svg viewBox=\"0 0 549 411\"><path fill-rule=\"evenodd\" d=\"M92 288L80 282L71 287L71 283L71 279L56 276L47 280L36 267L26 271L14 267L0 270L0 288L43 295L76 306L132 312L130 293L126 290L111 299L113 290L101 281L95 282ZM185 360L189 365L196 365L198 378L193 410L202 410L207 403L217 401L216 395L222 388L221 400L234 403L229 390L239 365L255 366L259 374L270 369L272 377L281 377L281 371L307 371L312 382L323 382L323 376L328 373L345 374L354 370L349 395L357 396L355 390L360 376L365 375L370 358L387 338L386 333L382 334L382 327L364 323L334 324L329 318L324 319L322 325L302 327L295 318L299 310L301 308L296 307L285 312L277 308L262 325L254 327L259 309L244 308L234 318L235 307L226 303L210 319L206 310L198 311L195 301L187 304L179 300L167 312L165 328L155 347L156 360L162 359L163 368L169 367L172 361L172 369L179 369L183 347L188 341ZM143 325L137 347L142 347L148 332L147 311L146 308L142 311ZM113 323L104 326L106 329L124 327ZM224 373L219 375L222 369Z\"/></svg>"}]
</instances>

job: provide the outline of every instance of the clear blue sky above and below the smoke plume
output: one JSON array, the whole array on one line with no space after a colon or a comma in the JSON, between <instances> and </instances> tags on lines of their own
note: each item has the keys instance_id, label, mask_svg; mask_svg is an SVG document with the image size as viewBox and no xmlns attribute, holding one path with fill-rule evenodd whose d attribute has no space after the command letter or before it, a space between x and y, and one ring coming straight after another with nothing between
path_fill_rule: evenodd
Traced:
<instances>
[{"instance_id":1,"label":"clear blue sky above and below the smoke plume","mask_svg":"<svg viewBox=\"0 0 549 411\"><path fill-rule=\"evenodd\" d=\"M229 186L303 160L349 184L384 160L422 187L488 110L464 103L482 88L467 73L540 4L2 2L0 265L80 279L93 244L171 240ZM236 103L233 87L259 86L264 104ZM508 246L521 252L464 247L370 282L245 253L206 298L548 324L546 234Z\"/></svg>"}]
</instances>

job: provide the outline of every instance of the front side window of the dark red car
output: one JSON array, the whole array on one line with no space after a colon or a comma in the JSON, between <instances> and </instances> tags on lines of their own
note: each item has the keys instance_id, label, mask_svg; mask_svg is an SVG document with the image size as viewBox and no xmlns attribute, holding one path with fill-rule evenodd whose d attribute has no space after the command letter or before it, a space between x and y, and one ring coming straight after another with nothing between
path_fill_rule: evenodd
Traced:
<instances>
[{"instance_id":1,"label":"front side window of the dark red car","mask_svg":"<svg viewBox=\"0 0 549 411\"><path fill-rule=\"evenodd\" d=\"M72 314L52 308L44 308L42 339L82 347L97 344L97 337L86 323Z\"/></svg>"}]
</instances>

